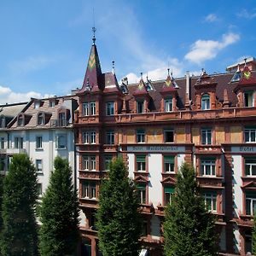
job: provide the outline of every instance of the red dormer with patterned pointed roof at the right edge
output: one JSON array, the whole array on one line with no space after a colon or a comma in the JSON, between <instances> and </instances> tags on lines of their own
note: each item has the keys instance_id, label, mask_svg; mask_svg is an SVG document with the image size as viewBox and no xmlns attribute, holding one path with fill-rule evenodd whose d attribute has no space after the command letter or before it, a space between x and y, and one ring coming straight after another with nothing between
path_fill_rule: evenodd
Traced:
<instances>
[{"instance_id":1,"label":"red dormer with patterned pointed roof at the right edge","mask_svg":"<svg viewBox=\"0 0 256 256\"><path fill-rule=\"evenodd\" d=\"M256 78L252 71L247 67L243 68L241 80L236 85L234 92L237 95L237 107L255 107L256 106Z\"/></svg>"}]
</instances>

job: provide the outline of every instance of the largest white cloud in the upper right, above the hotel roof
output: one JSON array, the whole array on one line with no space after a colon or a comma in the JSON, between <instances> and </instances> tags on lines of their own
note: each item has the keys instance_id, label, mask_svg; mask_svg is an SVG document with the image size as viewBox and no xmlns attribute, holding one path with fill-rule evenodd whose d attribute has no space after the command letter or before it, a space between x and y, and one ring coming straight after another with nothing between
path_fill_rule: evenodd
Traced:
<instances>
[{"instance_id":1,"label":"largest white cloud in the upper right, above the hotel roof","mask_svg":"<svg viewBox=\"0 0 256 256\"><path fill-rule=\"evenodd\" d=\"M240 36L235 33L224 34L220 41L197 40L191 45L191 50L185 55L185 60L201 65L203 61L211 60L218 55L221 49L236 43Z\"/></svg>"}]
</instances>

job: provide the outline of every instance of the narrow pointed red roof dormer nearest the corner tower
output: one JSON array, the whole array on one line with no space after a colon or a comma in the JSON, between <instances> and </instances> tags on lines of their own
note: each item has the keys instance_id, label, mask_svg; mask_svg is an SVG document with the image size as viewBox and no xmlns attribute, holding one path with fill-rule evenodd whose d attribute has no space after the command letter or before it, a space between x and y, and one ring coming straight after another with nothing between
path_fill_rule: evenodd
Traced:
<instances>
[{"instance_id":1,"label":"narrow pointed red roof dormer nearest the corner tower","mask_svg":"<svg viewBox=\"0 0 256 256\"><path fill-rule=\"evenodd\" d=\"M146 113L149 112L150 96L146 84L143 81L143 73L141 73L141 79L137 85L137 90L134 91L133 96L135 97L135 113Z\"/></svg>"}]
</instances>

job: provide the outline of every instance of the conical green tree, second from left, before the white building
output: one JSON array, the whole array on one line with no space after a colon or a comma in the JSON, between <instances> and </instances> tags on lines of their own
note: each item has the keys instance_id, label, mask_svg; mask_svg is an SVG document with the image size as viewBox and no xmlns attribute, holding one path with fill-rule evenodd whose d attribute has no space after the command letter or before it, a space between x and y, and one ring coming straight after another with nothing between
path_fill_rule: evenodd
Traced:
<instances>
[{"instance_id":1,"label":"conical green tree, second from left, before the white building","mask_svg":"<svg viewBox=\"0 0 256 256\"><path fill-rule=\"evenodd\" d=\"M67 160L57 156L39 209L41 256L72 255L79 241L79 201Z\"/></svg>"}]
</instances>

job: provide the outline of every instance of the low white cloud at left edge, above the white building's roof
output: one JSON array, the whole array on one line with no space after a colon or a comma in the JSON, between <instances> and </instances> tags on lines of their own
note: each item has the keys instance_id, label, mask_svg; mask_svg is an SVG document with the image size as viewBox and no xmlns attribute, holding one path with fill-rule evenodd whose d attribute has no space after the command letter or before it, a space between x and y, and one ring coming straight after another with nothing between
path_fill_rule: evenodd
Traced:
<instances>
[{"instance_id":1,"label":"low white cloud at left edge, above the white building's roof","mask_svg":"<svg viewBox=\"0 0 256 256\"><path fill-rule=\"evenodd\" d=\"M15 92L11 90L9 87L0 85L0 104L5 103L18 103L18 102L28 102L30 98L44 98L49 97L49 95L42 96L40 93L36 91L28 91L28 92Z\"/></svg>"}]
</instances>

